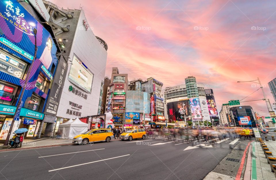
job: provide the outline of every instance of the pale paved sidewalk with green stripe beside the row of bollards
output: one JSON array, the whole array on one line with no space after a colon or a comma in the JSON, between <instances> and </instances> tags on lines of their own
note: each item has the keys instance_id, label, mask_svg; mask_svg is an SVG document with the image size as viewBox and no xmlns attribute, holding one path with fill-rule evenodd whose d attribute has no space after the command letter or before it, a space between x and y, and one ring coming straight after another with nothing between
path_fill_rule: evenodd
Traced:
<instances>
[{"instance_id":1,"label":"pale paved sidewalk with green stripe beside the row of bollards","mask_svg":"<svg viewBox=\"0 0 276 180\"><path fill-rule=\"evenodd\" d=\"M276 141L265 141L265 145L272 152L272 156L276 156ZM252 142L252 159L251 159L251 179L270 179L275 180L275 175L271 172L270 165L267 163L267 158L262 151L260 142Z\"/></svg>"}]
</instances>

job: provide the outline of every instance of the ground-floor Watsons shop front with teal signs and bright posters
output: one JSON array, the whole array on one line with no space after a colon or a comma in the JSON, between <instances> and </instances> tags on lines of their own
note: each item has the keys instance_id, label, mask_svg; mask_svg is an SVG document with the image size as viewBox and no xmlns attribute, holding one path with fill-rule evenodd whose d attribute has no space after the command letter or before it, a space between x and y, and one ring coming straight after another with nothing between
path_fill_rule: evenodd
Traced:
<instances>
[{"instance_id":1,"label":"ground-floor Watsons shop front with teal signs and bright posters","mask_svg":"<svg viewBox=\"0 0 276 180\"><path fill-rule=\"evenodd\" d=\"M37 136L37 131L44 114L22 108L20 111L20 119L14 122L11 135L8 137L8 132L11 127L15 111L16 106L0 104L0 143L4 143L7 138L11 138L16 129L23 127L28 129L25 133L25 138L33 139Z\"/></svg>"}]
</instances>

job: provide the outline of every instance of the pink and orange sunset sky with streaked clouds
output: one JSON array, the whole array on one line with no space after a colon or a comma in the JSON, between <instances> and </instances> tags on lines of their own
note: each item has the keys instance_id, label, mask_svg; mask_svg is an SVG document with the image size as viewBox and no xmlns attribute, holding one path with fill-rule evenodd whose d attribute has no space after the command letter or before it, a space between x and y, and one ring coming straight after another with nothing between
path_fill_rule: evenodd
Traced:
<instances>
[{"instance_id":1,"label":"pink and orange sunset sky with streaked clouds","mask_svg":"<svg viewBox=\"0 0 276 180\"><path fill-rule=\"evenodd\" d=\"M260 78L271 104L268 82L276 78L275 1L51 0L65 9L83 7L96 36L108 44L111 68L133 78L153 77L163 88L195 76L214 90L218 111L241 100ZM262 99L261 90L244 100ZM268 115L264 101L244 102Z\"/></svg>"}]
</instances>

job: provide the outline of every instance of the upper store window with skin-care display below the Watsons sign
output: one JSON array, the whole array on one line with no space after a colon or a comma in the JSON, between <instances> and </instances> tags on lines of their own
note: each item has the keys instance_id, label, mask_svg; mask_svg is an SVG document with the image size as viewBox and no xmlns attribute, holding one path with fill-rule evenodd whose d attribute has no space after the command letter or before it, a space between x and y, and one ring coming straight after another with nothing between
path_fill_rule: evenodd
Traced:
<instances>
[{"instance_id":1,"label":"upper store window with skin-care display below the Watsons sign","mask_svg":"<svg viewBox=\"0 0 276 180\"><path fill-rule=\"evenodd\" d=\"M27 67L27 63L0 50L0 71L16 78L22 79Z\"/></svg>"}]
</instances>

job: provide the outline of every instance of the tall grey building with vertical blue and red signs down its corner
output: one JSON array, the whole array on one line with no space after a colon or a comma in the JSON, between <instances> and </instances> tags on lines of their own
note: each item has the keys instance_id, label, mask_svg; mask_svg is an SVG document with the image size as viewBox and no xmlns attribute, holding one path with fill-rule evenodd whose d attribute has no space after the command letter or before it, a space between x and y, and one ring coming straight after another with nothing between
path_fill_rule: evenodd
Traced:
<instances>
[{"instance_id":1,"label":"tall grey building with vertical blue and red signs down its corner","mask_svg":"<svg viewBox=\"0 0 276 180\"><path fill-rule=\"evenodd\" d=\"M162 86L163 83L154 78L148 78L142 83L142 91L150 93L153 97L154 105L151 107L154 108L154 111L152 111L154 115L152 116L152 120L158 122L165 122Z\"/></svg>"}]
</instances>

